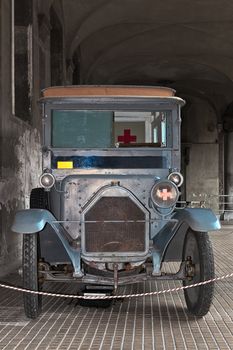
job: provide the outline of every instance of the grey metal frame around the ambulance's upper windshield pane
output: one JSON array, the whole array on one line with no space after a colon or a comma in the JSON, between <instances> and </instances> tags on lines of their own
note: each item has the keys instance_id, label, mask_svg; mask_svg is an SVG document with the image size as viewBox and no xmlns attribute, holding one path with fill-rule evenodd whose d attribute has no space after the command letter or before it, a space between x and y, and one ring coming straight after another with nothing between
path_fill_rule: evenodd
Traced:
<instances>
[{"instance_id":1,"label":"grey metal frame around the ambulance's upper windshield pane","mask_svg":"<svg viewBox=\"0 0 233 350\"><path fill-rule=\"evenodd\" d=\"M43 145L51 150L76 150L90 151L90 148L55 148L51 145L51 122L53 110L96 110L96 111L114 111L114 112L151 112L151 111L171 111L172 119L172 147L162 147L163 150L172 150L180 148L180 127L179 114L182 99L173 98L82 98L82 99L43 99L44 106L44 128L43 128ZM132 108L133 106L133 108ZM131 149L151 150L161 149L160 147L120 147L120 148L93 148L94 152L101 150L118 151L119 149L129 151Z\"/></svg>"}]
</instances>

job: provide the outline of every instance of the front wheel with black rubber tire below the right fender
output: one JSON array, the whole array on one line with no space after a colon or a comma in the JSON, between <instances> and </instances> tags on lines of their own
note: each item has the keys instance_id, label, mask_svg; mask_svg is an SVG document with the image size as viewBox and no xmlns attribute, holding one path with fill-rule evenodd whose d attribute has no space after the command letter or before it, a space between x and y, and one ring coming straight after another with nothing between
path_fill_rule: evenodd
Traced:
<instances>
[{"instance_id":1,"label":"front wheel with black rubber tire below the right fender","mask_svg":"<svg viewBox=\"0 0 233 350\"><path fill-rule=\"evenodd\" d=\"M195 264L196 275L190 281L184 280L184 286L210 280L215 277L214 255L208 233L193 231L191 229L187 231L183 248L183 261L186 260L187 256L191 256ZM199 287L184 289L185 301L189 313L197 317L205 316L212 304L213 295L214 282Z\"/></svg>"}]
</instances>

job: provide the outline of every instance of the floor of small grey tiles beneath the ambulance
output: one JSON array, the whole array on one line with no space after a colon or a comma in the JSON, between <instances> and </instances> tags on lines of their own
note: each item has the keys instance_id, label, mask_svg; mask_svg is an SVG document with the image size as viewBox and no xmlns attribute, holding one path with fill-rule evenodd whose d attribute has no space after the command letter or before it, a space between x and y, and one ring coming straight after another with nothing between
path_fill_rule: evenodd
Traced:
<instances>
[{"instance_id":1,"label":"floor of small grey tiles beneath the ambulance","mask_svg":"<svg viewBox=\"0 0 233 350\"><path fill-rule=\"evenodd\" d=\"M211 233L216 275L233 270L233 226ZM171 266L172 268L172 266ZM5 280L17 281L16 275ZM143 292L179 286L150 282L123 289ZM75 292L75 286L48 285L50 291ZM43 298L43 313L28 320L18 292L0 289L0 349L233 349L233 278L216 284L211 311L203 319L186 312L183 292L116 301L107 309L75 301Z\"/></svg>"}]
</instances>

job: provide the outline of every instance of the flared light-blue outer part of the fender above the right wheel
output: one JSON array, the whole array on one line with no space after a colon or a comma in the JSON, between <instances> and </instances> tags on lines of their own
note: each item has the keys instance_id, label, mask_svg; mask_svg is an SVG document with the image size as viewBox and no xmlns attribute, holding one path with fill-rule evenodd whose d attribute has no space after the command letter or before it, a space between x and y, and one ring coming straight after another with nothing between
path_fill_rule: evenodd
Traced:
<instances>
[{"instance_id":1,"label":"flared light-blue outer part of the fender above the right wheel","mask_svg":"<svg viewBox=\"0 0 233 350\"><path fill-rule=\"evenodd\" d=\"M206 208L177 209L173 219L187 223L193 231L208 232L221 228L217 216Z\"/></svg>"}]
</instances>

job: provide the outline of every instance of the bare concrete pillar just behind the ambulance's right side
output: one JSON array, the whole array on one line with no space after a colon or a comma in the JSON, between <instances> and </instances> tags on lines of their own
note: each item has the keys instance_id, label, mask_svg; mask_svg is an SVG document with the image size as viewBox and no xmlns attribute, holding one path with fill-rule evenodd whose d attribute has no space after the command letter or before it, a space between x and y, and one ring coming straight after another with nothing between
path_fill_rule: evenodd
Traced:
<instances>
[{"instance_id":1,"label":"bare concrete pillar just behind the ambulance's right side","mask_svg":"<svg viewBox=\"0 0 233 350\"><path fill-rule=\"evenodd\" d=\"M206 202L219 212L219 133L217 115L204 99L193 97L182 112L183 198Z\"/></svg>"}]
</instances>

